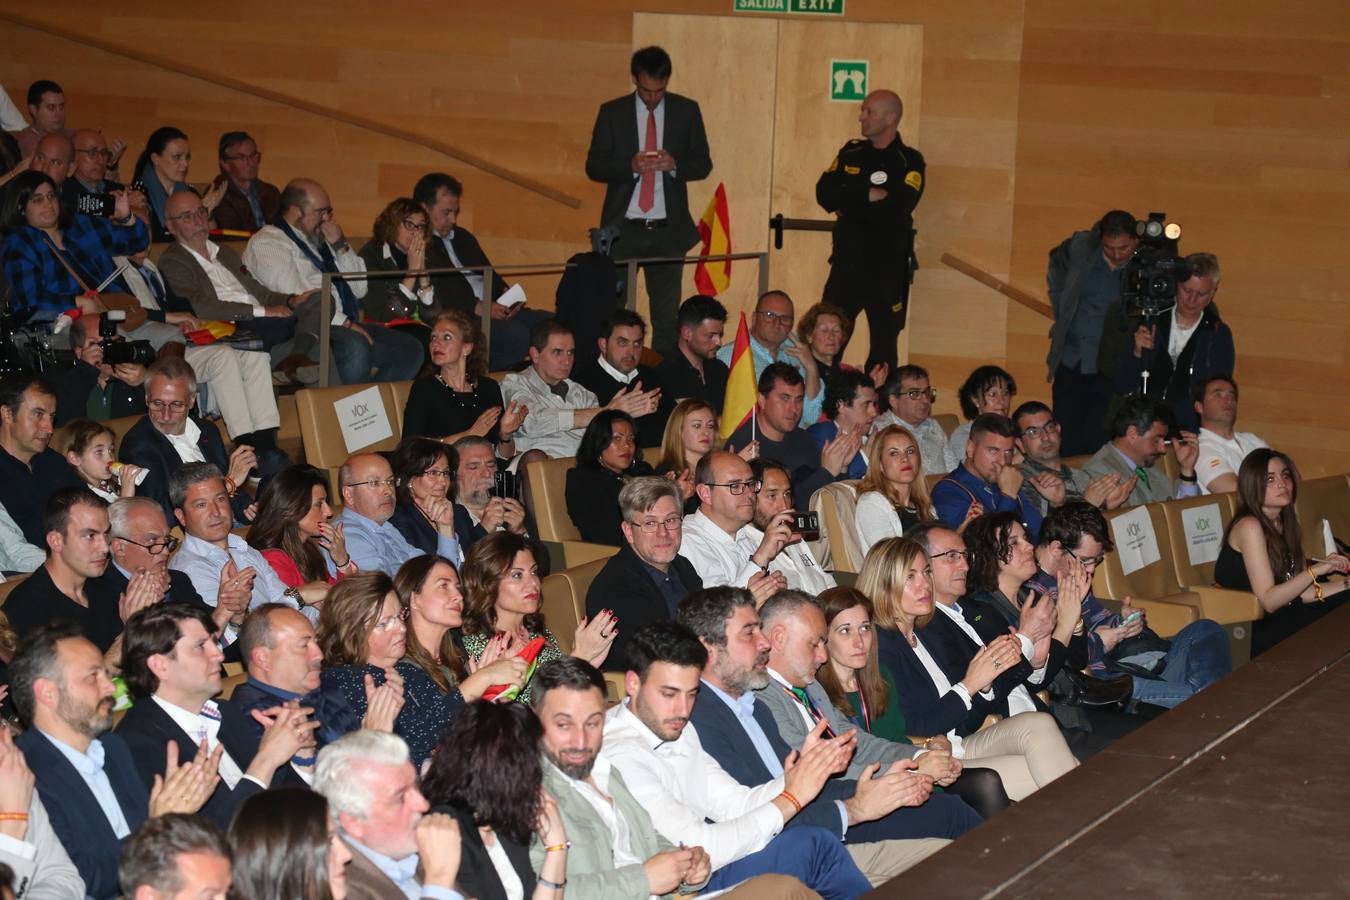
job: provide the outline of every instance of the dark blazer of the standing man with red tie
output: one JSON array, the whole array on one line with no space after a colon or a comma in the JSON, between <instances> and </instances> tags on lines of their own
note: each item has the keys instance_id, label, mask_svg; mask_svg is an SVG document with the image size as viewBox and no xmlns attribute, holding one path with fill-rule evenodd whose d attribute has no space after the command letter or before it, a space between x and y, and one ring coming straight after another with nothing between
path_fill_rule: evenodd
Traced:
<instances>
[{"instance_id":1,"label":"dark blazer of the standing man with red tie","mask_svg":"<svg viewBox=\"0 0 1350 900\"><path fill-rule=\"evenodd\" d=\"M707 132L698 104L688 97L667 93L666 127L662 146L675 158L675 171L657 173L666 196L666 217L676 244L683 248L698 243L698 228L688 215L690 181L702 181L713 171L713 157L707 148ZM586 177L605 188L605 205L599 224L617 225L628 213L628 204L637 190L640 178L633 171L637 154L637 101L624 94L601 104L591 130L590 150L586 152Z\"/></svg>"}]
</instances>

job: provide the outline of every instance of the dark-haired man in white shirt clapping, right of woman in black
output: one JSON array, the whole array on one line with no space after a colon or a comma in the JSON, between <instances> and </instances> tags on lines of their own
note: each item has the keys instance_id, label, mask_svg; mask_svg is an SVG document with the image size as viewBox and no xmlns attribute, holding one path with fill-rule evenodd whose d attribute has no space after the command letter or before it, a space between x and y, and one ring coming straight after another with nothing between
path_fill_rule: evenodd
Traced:
<instances>
[{"instance_id":1,"label":"dark-haired man in white shirt clapping, right of woman in black","mask_svg":"<svg viewBox=\"0 0 1350 900\"><path fill-rule=\"evenodd\" d=\"M576 339L556 320L545 320L529 333L529 368L502 379L502 398L508 405L522 402L529 407L516 432L516 449L562 459L575 456L586 426L602 409L618 409L634 418L656 410L660 390L621 389L601 406L590 390L570 376L576 362ZM521 464L531 461L521 460ZM518 466L517 466L518 468ZM526 503L528 506L528 503Z\"/></svg>"}]
</instances>

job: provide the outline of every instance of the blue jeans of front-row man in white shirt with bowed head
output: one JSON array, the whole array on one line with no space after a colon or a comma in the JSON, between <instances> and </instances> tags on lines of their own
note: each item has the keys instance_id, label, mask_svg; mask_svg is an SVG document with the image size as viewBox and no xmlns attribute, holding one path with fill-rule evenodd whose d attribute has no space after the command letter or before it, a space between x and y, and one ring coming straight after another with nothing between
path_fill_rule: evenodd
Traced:
<instances>
[{"instance_id":1,"label":"blue jeans of front-row man in white shirt with bowed head","mask_svg":"<svg viewBox=\"0 0 1350 900\"><path fill-rule=\"evenodd\" d=\"M872 889L844 842L815 826L787 828L763 850L728 862L705 891L722 891L757 874L788 874L825 900L850 900Z\"/></svg>"}]
</instances>

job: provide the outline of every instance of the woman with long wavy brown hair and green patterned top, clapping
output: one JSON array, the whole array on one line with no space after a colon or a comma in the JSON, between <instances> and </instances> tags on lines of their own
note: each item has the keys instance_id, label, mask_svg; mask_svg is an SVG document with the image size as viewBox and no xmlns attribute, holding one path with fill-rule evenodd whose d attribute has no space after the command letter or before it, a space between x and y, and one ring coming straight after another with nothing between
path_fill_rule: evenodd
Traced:
<instances>
[{"instance_id":1,"label":"woman with long wavy brown hair and green patterned top, clapping","mask_svg":"<svg viewBox=\"0 0 1350 900\"><path fill-rule=\"evenodd\" d=\"M474 544L474 549L464 557L460 583L467 599L464 652L475 661L490 658L493 638L498 634L506 636L500 638L501 642L516 648L525 648L531 641L543 638L543 648L536 656L540 665L563 656L558 638L548 630L540 611L539 567L535 552L524 537L497 532ZM571 654L591 665L602 665L618 634L618 618L603 610L582 619L572 636ZM529 702L532 685L533 683L526 684L520 692L521 703Z\"/></svg>"}]
</instances>

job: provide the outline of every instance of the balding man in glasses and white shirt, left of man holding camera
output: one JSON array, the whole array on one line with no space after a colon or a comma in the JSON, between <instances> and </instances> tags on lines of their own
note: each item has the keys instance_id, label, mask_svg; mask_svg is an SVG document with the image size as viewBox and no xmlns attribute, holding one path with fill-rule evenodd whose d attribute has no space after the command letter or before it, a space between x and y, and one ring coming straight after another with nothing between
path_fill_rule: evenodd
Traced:
<instances>
[{"instance_id":1,"label":"balding man in glasses and white shirt, left of man holding camera","mask_svg":"<svg viewBox=\"0 0 1350 900\"><path fill-rule=\"evenodd\" d=\"M792 513L783 510L767 521L763 537L747 553L751 522L755 521L760 480L751 464L736 453L713 451L694 468L698 511L684 517L680 556L707 587L744 587L756 603L763 603L787 587L782 572L770 564L798 536L792 534Z\"/></svg>"}]
</instances>

